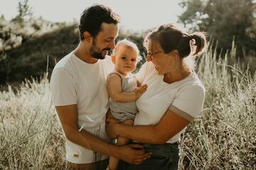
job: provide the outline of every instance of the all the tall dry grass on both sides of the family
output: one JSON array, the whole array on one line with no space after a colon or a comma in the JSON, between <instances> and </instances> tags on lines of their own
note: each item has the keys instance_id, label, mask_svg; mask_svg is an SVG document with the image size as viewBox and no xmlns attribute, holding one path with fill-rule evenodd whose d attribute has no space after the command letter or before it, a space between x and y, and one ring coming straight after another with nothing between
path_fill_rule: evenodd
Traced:
<instances>
[{"instance_id":1,"label":"all the tall dry grass on both sides of the family","mask_svg":"<svg viewBox=\"0 0 256 170\"><path fill-rule=\"evenodd\" d=\"M206 99L181 137L179 169L256 169L256 74L215 54L209 48L198 61ZM65 169L48 80L9 86L0 99L0 169Z\"/></svg>"}]
</instances>

